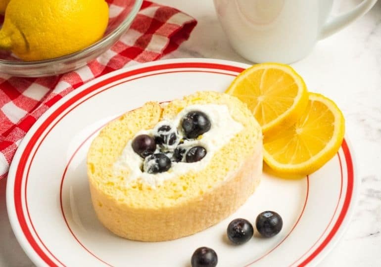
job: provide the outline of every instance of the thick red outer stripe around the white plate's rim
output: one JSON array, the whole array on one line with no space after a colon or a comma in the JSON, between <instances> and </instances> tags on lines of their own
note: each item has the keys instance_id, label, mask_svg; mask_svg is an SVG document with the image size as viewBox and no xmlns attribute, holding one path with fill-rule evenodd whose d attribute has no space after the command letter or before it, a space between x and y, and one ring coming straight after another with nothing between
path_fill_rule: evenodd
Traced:
<instances>
[{"instance_id":1,"label":"thick red outer stripe around the white plate's rim","mask_svg":"<svg viewBox=\"0 0 381 267\"><path fill-rule=\"evenodd\" d=\"M20 227L21 227L21 229L22 229L26 239L28 240L28 242L31 245L31 247L35 250L35 252L40 256L40 258L45 263L47 263L49 266L57 266L57 265L49 258L49 256L43 251L43 249L39 246L39 244L34 239L33 235L31 234L31 231L28 228L28 225L26 223L24 211L23 211L23 208L22 208L22 193L21 193L22 188L21 187L22 187L23 175L24 175L26 163L27 163L27 161L29 159L29 156L30 156L32 150L34 149L38 139L48 129L50 124L59 115L61 115L66 109L68 109L75 102L77 102L81 98L85 97L89 93L95 91L96 89L99 89L99 88L101 88L103 86L106 86L107 84L116 82L118 80L121 80L121 79L126 78L126 77L130 77L130 76L133 76L133 75L143 74L143 73L152 72L152 71L165 70L165 69L179 69L179 68L218 69L218 70L226 70L226 71L231 71L231 72L236 72L236 73L239 73L239 72L244 70L243 68L240 68L240 67L223 65L223 64L203 63L203 62L189 62L189 63L170 63L170 64L163 64L163 65L149 66L149 67L144 67L144 68L141 68L141 69L136 69L136 70L128 71L128 72L125 72L125 73L121 73L121 74L112 76L112 77L110 77L110 78L108 78L106 80L100 81L100 82L94 84L93 86L91 86L91 87L89 87L87 89L84 89L83 91L78 92L76 95L72 96L70 99L68 99L66 102L64 102L61 106L59 106L55 111L53 111L53 113L50 116L48 116L48 118L36 130L35 134L32 135L30 141L27 143L27 145L26 145L26 147L25 147L25 149L24 149L24 151L23 151L23 153L21 155L21 158L20 158L20 161L19 161L19 165L17 166L16 175L15 175L15 185L14 185L14 205L15 205L17 219L19 221ZM188 70L184 70L184 71L186 72ZM189 70L189 71L193 72L194 70L193 71ZM214 73L213 71L201 71L201 70L199 72L212 72L212 73ZM162 73L160 73L160 74L162 74ZM226 75L232 75L232 74L227 74L227 73L224 73L224 74L226 74ZM88 97L88 98L91 98L91 97ZM86 100L84 100L84 101L86 101ZM72 108L72 109L74 109L74 108ZM70 109L68 112L70 112L72 109ZM50 132L50 130L49 130L49 132ZM40 144L41 144L41 142L42 142L42 140L40 141ZM333 238L334 234L337 232L338 228L340 227L342 221L344 220L345 215L346 215L347 210L348 210L348 207L349 207L349 204L350 204L350 200L351 200L351 196L352 196L352 191L353 191L353 165L352 165L352 160L351 160L350 152L349 152L349 149L348 149L348 147L346 145L345 140L343 141L342 149L344 151L345 160L347 162L347 169L348 169L348 188L347 188L346 198L345 198L345 201L344 201L344 206L343 206L343 209L342 209L342 211L340 213L340 216L339 216L337 222L335 223L335 225L333 227L333 230L327 236L325 241L319 246L319 248L316 251L314 251L313 254L311 254L302 263L304 265L306 265L313 258L315 258L327 246L327 244L331 241L331 239ZM36 151L35 151L35 153L36 153ZM28 181L28 177L26 177L26 179L25 179L25 201L27 201L27 196L26 196L26 188L27 188L26 184L27 184L27 181ZM27 205L26 205L26 208L27 208L27 211L28 211ZM32 223L30 218L29 218L29 220L30 220L30 222L32 224L32 227L33 227L33 223ZM36 233L36 235L37 235L37 233ZM41 239L40 239L40 242L43 244L45 249L48 251L48 248L45 246L45 244L42 242ZM52 255L52 253L50 251L48 251L48 252L49 252L49 254L55 260L57 260ZM59 262L59 263L61 265L63 265L61 262Z\"/></svg>"}]
</instances>

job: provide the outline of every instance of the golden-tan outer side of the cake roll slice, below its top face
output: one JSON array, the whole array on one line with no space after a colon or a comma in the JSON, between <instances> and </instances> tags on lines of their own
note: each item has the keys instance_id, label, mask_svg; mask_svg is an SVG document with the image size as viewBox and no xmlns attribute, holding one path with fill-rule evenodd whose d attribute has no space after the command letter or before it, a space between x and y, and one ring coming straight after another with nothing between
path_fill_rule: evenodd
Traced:
<instances>
[{"instance_id":1,"label":"golden-tan outer side of the cake roll slice, below its top face","mask_svg":"<svg viewBox=\"0 0 381 267\"><path fill-rule=\"evenodd\" d=\"M254 192L262 173L261 151L258 143L258 150L213 191L165 209L137 210L115 203L91 184L93 203L103 203L102 207L94 205L96 215L113 233L132 240L164 241L199 232L234 213Z\"/></svg>"}]
</instances>

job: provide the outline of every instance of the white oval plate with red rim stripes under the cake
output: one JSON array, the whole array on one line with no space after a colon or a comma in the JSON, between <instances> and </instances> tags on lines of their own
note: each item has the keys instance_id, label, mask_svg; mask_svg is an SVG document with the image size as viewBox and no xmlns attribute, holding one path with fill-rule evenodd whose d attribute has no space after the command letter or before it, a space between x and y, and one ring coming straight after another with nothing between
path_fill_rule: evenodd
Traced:
<instances>
[{"instance_id":1,"label":"white oval plate with red rim stripes under the cake","mask_svg":"<svg viewBox=\"0 0 381 267\"><path fill-rule=\"evenodd\" d=\"M347 140L309 177L263 175L257 191L235 214L189 237L129 241L106 230L95 217L85 158L99 128L147 100L223 91L246 67L211 59L147 63L102 76L53 105L25 136L7 181L9 219L32 261L37 266L189 267L193 251L208 246L217 252L219 267L316 265L342 235L358 192ZM231 220L242 217L254 223L265 210L283 218L277 236L254 237L242 246L227 242Z\"/></svg>"}]
</instances>

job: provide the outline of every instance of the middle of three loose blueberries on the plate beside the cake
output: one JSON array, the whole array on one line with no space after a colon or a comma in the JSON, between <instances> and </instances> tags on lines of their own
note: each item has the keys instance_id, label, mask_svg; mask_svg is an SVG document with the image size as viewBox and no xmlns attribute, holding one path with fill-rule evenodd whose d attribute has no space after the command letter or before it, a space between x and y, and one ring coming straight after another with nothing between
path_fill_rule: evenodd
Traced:
<instances>
[{"instance_id":1,"label":"middle of three loose blueberries on the plate beside the cake","mask_svg":"<svg viewBox=\"0 0 381 267\"><path fill-rule=\"evenodd\" d=\"M229 223L227 233L230 241L240 245L249 241L254 234L254 228L249 221L239 218Z\"/></svg>"}]
</instances>

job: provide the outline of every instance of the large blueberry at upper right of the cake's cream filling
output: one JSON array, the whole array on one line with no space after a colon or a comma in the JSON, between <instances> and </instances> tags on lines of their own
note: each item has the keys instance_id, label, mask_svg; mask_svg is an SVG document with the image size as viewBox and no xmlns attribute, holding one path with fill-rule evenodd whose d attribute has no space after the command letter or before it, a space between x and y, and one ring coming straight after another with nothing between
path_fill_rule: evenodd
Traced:
<instances>
[{"instance_id":1,"label":"large blueberry at upper right of the cake's cream filling","mask_svg":"<svg viewBox=\"0 0 381 267\"><path fill-rule=\"evenodd\" d=\"M191 111L184 116L182 127L187 138L197 138L210 130L210 120L201 111Z\"/></svg>"}]
</instances>

